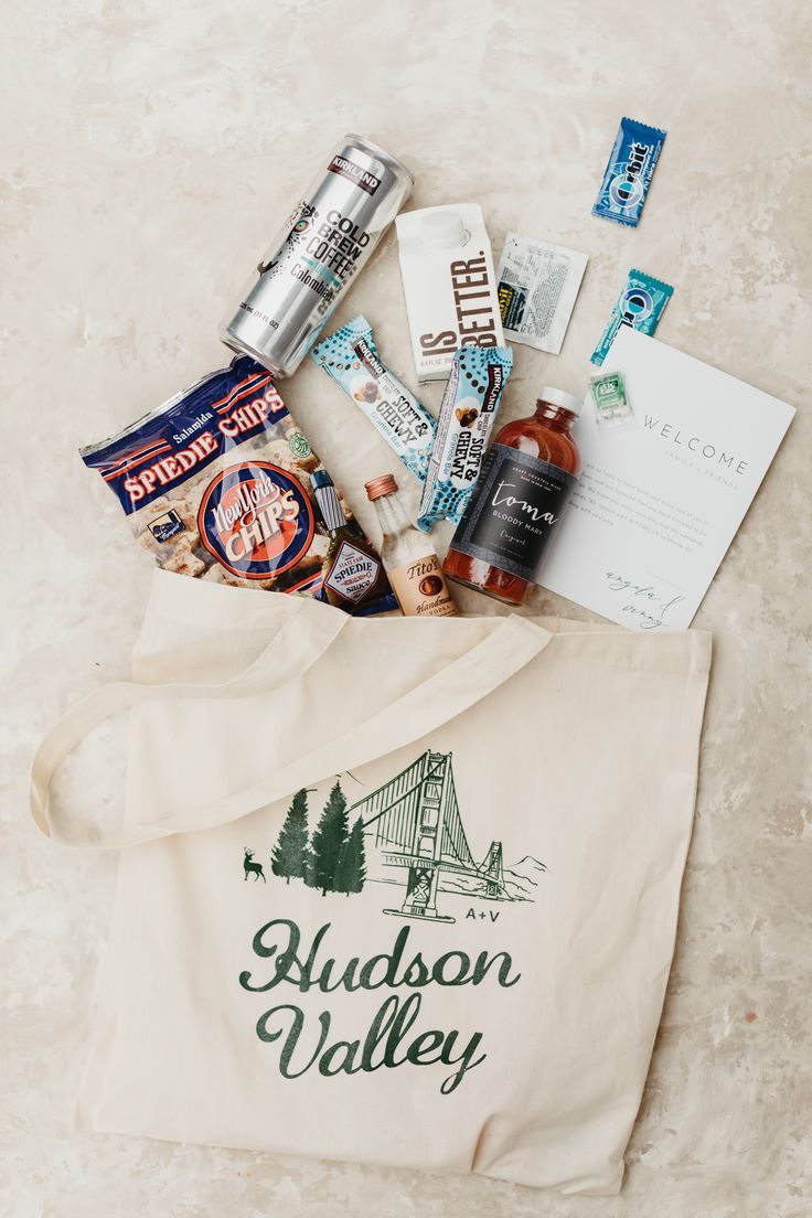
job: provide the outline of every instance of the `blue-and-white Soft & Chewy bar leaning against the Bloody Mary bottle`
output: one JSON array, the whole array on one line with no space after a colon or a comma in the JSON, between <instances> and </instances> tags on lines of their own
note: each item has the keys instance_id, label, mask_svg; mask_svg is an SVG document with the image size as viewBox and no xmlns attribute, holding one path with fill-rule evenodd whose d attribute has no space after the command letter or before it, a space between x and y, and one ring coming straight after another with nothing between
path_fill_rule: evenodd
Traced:
<instances>
[{"instance_id":1,"label":"blue-and-white Soft & Chewy bar leaning against the Bloody Mary bottle","mask_svg":"<svg viewBox=\"0 0 812 1218\"><path fill-rule=\"evenodd\" d=\"M419 529L427 532L438 520L460 523L511 369L510 347L463 347L454 356L420 501Z\"/></svg>"}]
</instances>

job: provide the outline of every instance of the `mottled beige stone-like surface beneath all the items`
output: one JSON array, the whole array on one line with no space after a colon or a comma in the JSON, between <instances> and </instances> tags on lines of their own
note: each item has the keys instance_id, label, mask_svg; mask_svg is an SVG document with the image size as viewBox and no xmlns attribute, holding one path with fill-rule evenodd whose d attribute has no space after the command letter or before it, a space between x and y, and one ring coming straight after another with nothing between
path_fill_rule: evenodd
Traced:
<instances>
[{"instance_id":1,"label":"mottled beige stone-like surface beneath all the items","mask_svg":"<svg viewBox=\"0 0 812 1218\"><path fill-rule=\"evenodd\" d=\"M808 6L39 0L7 9L4 43L0 1213L810 1214ZM622 113L670 133L638 231L589 214ZM223 362L225 304L345 130L414 167L415 205L480 201L494 246L514 228L589 253L562 356L516 348L506 412L582 387L633 264L676 287L662 339L799 407L696 620L716 635L696 831L617 1199L65 1123L116 860L38 839L26 770L79 692L127 674L150 574L75 449ZM410 371L392 241L360 308ZM307 367L285 393L358 502L388 454L360 415L336 432L324 389Z\"/></svg>"}]
</instances>

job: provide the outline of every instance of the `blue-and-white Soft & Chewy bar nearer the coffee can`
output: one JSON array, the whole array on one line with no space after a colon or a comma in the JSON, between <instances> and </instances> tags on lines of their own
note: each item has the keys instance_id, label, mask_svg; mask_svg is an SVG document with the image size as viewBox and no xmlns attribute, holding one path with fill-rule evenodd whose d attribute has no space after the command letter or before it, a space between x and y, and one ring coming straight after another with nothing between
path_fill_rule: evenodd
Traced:
<instances>
[{"instance_id":1,"label":"blue-and-white Soft & Chewy bar nearer the coffee can","mask_svg":"<svg viewBox=\"0 0 812 1218\"><path fill-rule=\"evenodd\" d=\"M359 406L409 473L425 482L436 424L403 381L381 363L373 328L357 317L310 352Z\"/></svg>"}]
</instances>

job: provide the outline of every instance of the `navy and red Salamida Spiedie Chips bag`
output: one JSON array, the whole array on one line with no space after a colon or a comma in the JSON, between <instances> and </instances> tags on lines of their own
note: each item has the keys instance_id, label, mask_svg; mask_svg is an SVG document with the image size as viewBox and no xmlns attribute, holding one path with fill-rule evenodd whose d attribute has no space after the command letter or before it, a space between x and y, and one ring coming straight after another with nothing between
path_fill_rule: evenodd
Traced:
<instances>
[{"instance_id":1,"label":"navy and red Salamida Spiedie Chips bag","mask_svg":"<svg viewBox=\"0 0 812 1218\"><path fill-rule=\"evenodd\" d=\"M310 485L323 465L273 379L247 356L112 440L82 449L159 566L217 583L325 600L331 531ZM364 537L340 501L347 526ZM377 555L376 555L377 557ZM397 608L379 565L342 608Z\"/></svg>"}]
</instances>

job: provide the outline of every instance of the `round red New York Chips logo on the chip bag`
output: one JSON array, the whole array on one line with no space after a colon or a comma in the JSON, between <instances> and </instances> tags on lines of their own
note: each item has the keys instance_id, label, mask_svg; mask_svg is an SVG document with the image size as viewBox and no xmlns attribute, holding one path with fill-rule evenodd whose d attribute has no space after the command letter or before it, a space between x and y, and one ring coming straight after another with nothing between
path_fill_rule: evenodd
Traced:
<instances>
[{"instance_id":1,"label":"round red New York Chips logo on the chip bag","mask_svg":"<svg viewBox=\"0 0 812 1218\"><path fill-rule=\"evenodd\" d=\"M267 580L307 553L315 516L297 477L270 462L245 462L209 482L197 527L202 544L226 571Z\"/></svg>"}]
</instances>

